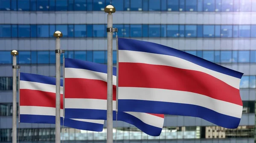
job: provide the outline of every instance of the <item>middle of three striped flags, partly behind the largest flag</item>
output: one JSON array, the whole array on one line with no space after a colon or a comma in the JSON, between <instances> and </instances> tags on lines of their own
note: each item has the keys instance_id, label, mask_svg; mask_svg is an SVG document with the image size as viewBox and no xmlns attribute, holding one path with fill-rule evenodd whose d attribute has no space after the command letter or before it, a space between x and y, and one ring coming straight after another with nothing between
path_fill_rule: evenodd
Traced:
<instances>
[{"instance_id":1,"label":"middle of three striped flags, partly behind the largest flag","mask_svg":"<svg viewBox=\"0 0 256 143\"><path fill-rule=\"evenodd\" d=\"M107 65L65 59L65 117L107 119ZM113 67L113 120L116 120L116 67ZM118 121L136 126L148 135L159 136L164 115L118 112Z\"/></svg>"}]
</instances>

